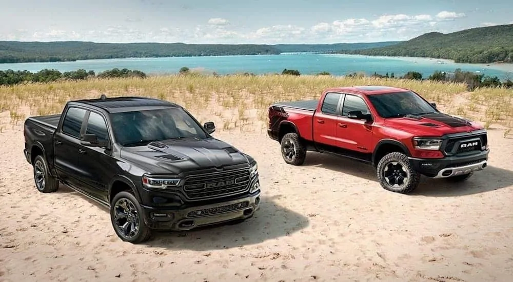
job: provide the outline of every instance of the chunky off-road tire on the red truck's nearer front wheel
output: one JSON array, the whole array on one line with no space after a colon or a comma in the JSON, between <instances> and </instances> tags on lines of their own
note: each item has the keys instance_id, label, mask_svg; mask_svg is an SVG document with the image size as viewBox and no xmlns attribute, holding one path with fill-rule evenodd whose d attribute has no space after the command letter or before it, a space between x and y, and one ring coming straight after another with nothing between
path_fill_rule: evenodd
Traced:
<instances>
[{"instance_id":1,"label":"chunky off-road tire on the red truck's nearer front wheel","mask_svg":"<svg viewBox=\"0 0 513 282\"><path fill-rule=\"evenodd\" d=\"M394 171L391 172L392 175L385 177L384 173L390 171L394 165L395 168ZM402 169L399 169L400 167ZM376 172L381 187L392 192L407 194L415 190L420 183L420 174L413 169L408 156L400 152L386 154L382 159L380 159ZM396 176L398 178L396 178ZM402 179L402 182L400 181L402 185L399 185L399 187L392 186L393 184L390 184L390 182L392 182L392 177L393 181L397 181L403 177L404 179Z\"/></svg>"}]
</instances>

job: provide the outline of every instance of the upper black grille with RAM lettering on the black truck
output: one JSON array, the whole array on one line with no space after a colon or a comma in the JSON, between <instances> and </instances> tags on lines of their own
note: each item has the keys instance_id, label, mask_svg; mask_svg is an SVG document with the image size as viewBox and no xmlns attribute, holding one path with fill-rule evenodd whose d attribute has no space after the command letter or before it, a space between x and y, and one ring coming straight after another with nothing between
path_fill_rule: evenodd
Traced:
<instances>
[{"instance_id":1,"label":"upper black grille with RAM lettering on the black truck","mask_svg":"<svg viewBox=\"0 0 513 282\"><path fill-rule=\"evenodd\" d=\"M242 193L249 188L250 180L248 169L193 175L185 179L184 193L194 200Z\"/></svg>"}]
</instances>

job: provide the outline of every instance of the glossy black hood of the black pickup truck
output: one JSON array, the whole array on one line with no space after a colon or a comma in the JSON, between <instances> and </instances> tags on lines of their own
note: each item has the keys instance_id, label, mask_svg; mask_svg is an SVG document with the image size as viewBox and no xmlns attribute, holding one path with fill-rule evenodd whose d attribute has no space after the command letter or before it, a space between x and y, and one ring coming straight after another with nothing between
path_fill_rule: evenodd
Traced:
<instances>
[{"instance_id":1,"label":"glossy black hood of the black pickup truck","mask_svg":"<svg viewBox=\"0 0 513 282\"><path fill-rule=\"evenodd\" d=\"M121 157L154 174L180 174L254 161L250 156L215 138L164 140L147 146L125 147L121 150Z\"/></svg>"}]
</instances>

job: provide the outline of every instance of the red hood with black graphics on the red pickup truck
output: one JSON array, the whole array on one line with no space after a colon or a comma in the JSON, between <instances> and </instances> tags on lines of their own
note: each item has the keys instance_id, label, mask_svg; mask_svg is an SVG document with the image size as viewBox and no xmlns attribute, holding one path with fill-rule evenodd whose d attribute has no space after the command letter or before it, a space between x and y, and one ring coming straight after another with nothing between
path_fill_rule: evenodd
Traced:
<instances>
[{"instance_id":1,"label":"red hood with black graphics on the red pickup truck","mask_svg":"<svg viewBox=\"0 0 513 282\"><path fill-rule=\"evenodd\" d=\"M471 132L483 126L463 117L445 113L429 113L416 116L389 118L385 126L417 136L442 136L445 134Z\"/></svg>"}]
</instances>

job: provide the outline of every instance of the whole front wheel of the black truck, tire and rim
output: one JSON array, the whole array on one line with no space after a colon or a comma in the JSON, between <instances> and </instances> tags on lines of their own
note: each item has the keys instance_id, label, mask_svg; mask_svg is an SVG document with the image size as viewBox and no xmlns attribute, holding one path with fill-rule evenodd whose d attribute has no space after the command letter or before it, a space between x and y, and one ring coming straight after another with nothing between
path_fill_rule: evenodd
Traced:
<instances>
[{"instance_id":1,"label":"whole front wheel of the black truck, tire and rim","mask_svg":"<svg viewBox=\"0 0 513 282\"><path fill-rule=\"evenodd\" d=\"M128 191L119 192L112 199L110 220L116 235L123 241L138 244L151 236L151 230L144 223L141 205Z\"/></svg>"}]
</instances>

